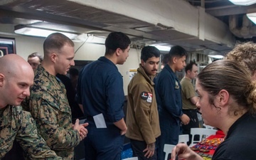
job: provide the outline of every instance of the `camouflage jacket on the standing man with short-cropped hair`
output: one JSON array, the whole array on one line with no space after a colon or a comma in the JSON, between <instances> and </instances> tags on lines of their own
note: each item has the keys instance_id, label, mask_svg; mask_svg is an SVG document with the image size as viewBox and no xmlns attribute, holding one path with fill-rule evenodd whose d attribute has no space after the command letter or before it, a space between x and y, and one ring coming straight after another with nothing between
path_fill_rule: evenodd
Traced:
<instances>
[{"instance_id":1,"label":"camouflage jacket on the standing man with short-cropped hair","mask_svg":"<svg viewBox=\"0 0 256 160\"><path fill-rule=\"evenodd\" d=\"M65 86L38 66L35 73L28 108L36 120L39 134L50 149L65 159L74 159L74 147L80 143L80 135L73 129L71 109Z\"/></svg>"}]
</instances>

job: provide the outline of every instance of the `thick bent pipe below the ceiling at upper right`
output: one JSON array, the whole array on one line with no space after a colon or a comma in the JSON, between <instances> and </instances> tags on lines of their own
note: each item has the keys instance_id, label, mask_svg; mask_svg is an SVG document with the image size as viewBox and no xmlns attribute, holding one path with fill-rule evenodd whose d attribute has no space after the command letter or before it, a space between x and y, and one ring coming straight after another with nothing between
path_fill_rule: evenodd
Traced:
<instances>
[{"instance_id":1,"label":"thick bent pipe below the ceiling at upper right","mask_svg":"<svg viewBox=\"0 0 256 160\"><path fill-rule=\"evenodd\" d=\"M233 35L239 38L252 38L256 36L256 26L246 15L242 16L242 27L238 26L238 15L229 16L229 28Z\"/></svg>"}]
</instances>

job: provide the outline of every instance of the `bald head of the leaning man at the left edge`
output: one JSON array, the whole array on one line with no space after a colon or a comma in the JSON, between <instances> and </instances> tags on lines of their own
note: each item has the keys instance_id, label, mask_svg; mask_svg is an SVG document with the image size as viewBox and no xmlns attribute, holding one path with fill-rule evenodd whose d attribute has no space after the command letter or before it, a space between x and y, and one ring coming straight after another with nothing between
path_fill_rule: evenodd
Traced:
<instances>
[{"instance_id":1,"label":"bald head of the leaning man at the left edge","mask_svg":"<svg viewBox=\"0 0 256 160\"><path fill-rule=\"evenodd\" d=\"M0 58L0 108L18 106L30 95L33 85L33 69L19 55L10 54Z\"/></svg>"}]
</instances>

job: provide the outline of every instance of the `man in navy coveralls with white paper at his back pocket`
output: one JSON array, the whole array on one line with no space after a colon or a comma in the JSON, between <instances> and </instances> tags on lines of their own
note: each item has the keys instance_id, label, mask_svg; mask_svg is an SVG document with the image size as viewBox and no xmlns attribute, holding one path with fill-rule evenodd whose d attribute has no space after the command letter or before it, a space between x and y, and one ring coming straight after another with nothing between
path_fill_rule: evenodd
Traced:
<instances>
[{"instance_id":1,"label":"man in navy coveralls with white paper at his back pocket","mask_svg":"<svg viewBox=\"0 0 256 160\"><path fill-rule=\"evenodd\" d=\"M80 70L77 100L89 126L85 139L86 160L120 160L127 126L124 122L124 90L117 64L128 57L129 37L113 32L105 41L105 56Z\"/></svg>"}]
</instances>

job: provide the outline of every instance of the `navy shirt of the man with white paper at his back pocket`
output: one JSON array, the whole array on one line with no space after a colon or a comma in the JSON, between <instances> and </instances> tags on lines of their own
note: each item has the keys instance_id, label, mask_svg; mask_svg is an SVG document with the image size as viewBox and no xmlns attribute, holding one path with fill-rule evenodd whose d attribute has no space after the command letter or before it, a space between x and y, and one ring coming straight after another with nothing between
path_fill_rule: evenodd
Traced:
<instances>
[{"instance_id":1,"label":"navy shirt of the man with white paper at his back pocket","mask_svg":"<svg viewBox=\"0 0 256 160\"><path fill-rule=\"evenodd\" d=\"M88 119L102 113L112 124L124 117L122 75L111 60L100 57L80 70L77 86L78 104L82 104Z\"/></svg>"}]
</instances>

